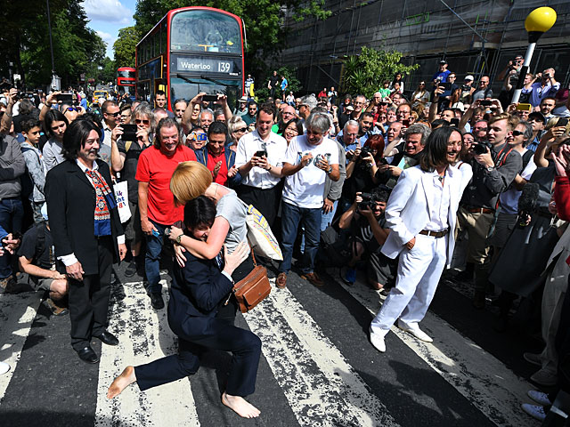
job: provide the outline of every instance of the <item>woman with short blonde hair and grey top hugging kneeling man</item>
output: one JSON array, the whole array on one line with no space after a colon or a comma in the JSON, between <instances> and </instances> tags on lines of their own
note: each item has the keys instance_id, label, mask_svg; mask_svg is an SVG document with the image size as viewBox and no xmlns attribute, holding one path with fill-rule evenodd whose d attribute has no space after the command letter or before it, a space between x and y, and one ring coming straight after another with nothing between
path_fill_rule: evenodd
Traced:
<instances>
[{"instance_id":1,"label":"woman with short blonde hair and grey top hugging kneeling man","mask_svg":"<svg viewBox=\"0 0 570 427\"><path fill-rule=\"evenodd\" d=\"M229 251L233 251L240 243L248 239L248 229L246 217L248 215L247 206L238 198L232 189L212 182L212 173L205 165L198 162L183 162L179 164L170 180L170 190L175 196L175 203L185 205L192 199L199 196L210 197L216 203L216 221L212 225L212 230L208 238L199 241L189 238L183 234L183 230L176 227L170 229L169 238L181 249L190 252L200 259L213 260L222 250L222 246L227 246ZM177 252L176 259L179 263L184 263ZM234 282L239 282L248 276L253 270L253 259L249 255L245 261L241 262L232 274ZM231 295L227 304L220 307L217 318L223 318L233 325L235 313L238 310L238 302Z\"/></svg>"}]
</instances>

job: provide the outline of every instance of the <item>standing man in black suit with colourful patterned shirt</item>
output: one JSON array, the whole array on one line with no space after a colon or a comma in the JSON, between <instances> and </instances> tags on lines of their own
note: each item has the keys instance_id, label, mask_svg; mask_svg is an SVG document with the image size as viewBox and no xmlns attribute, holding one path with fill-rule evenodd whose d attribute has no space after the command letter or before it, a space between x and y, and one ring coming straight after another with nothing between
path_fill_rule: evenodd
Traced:
<instances>
[{"instance_id":1,"label":"standing man in black suit with colourful patterned shirt","mask_svg":"<svg viewBox=\"0 0 570 427\"><path fill-rule=\"evenodd\" d=\"M69 278L71 345L88 363L99 361L92 337L118 344L107 331L110 270L114 258L126 254L109 166L97 159L101 136L91 120L75 120L63 135L66 161L45 179L55 255Z\"/></svg>"}]
</instances>

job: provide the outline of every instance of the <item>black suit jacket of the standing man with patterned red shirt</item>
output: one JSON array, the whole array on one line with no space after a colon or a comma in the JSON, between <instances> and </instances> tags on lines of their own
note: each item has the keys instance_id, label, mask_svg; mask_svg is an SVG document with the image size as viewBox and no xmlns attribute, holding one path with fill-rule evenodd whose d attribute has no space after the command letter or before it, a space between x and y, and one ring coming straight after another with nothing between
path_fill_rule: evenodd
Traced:
<instances>
[{"instance_id":1,"label":"black suit jacket of the standing man with patterned red shirt","mask_svg":"<svg viewBox=\"0 0 570 427\"><path fill-rule=\"evenodd\" d=\"M109 165L96 160L99 173L112 191ZM55 255L75 254L85 274L98 274L97 239L94 237L95 189L75 160L66 160L45 177L45 200ZM123 227L117 207L110 210L111 237L118 261L117 237Z\"/></svg>"}]
</instances>

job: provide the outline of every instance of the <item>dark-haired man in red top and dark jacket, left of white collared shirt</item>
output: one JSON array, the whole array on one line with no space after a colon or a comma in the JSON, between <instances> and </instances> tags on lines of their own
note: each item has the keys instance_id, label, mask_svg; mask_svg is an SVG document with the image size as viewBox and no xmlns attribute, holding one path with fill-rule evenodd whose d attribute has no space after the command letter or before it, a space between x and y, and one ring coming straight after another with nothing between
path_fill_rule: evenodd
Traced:
<instances>
[{"instance_id":1,"label":"dark-haired man in red top and dark jacket, left of white collared shirt","mask_svg":"<svg viewBox=\"0 0 570 427\"><path fill-rule=\"evenodd\" d=\"M233 165L235 151L226 149L228 128L222 122L214 122L208 128L208 144L196 153L199 163L208 167L212 181L226 187L236 187L241 182L241 175Z\"/></svg>"}]
</instances>

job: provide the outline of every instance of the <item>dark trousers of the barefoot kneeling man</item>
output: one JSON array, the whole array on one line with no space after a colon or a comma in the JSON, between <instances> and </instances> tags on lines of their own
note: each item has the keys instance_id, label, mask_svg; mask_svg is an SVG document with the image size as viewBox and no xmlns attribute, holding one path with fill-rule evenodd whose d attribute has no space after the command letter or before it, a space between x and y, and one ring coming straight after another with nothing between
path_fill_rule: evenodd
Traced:
<instances>
[{"instance_id":1,"label":"dark trousers of the barefoot kneeling man","mask_svg":"<svg viewBox=\"0 0 570 427\"><path fill-rule=\"evenodd\" d=\"M225 391L232 396L248 396L256 389L257 367L261 356L261 341L256 334L230 326L218 318L191 318L197 329L208 334L178 330L178 354L134 367L141 391L171 383L198 372L199 354L206 349L232 352L232 365Z\"/></svg>"}]
</instances>

